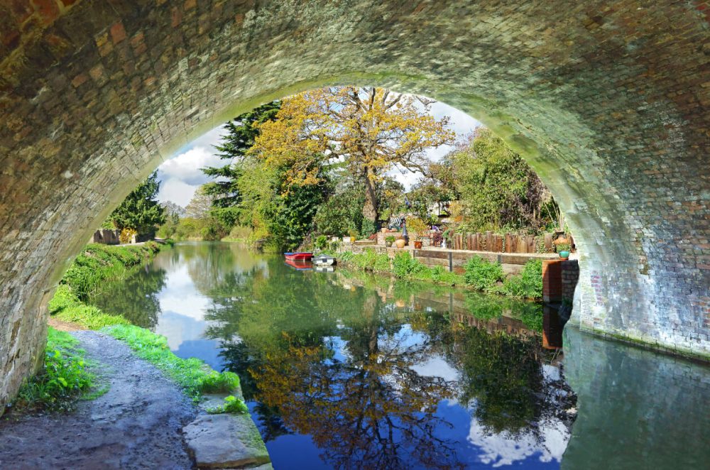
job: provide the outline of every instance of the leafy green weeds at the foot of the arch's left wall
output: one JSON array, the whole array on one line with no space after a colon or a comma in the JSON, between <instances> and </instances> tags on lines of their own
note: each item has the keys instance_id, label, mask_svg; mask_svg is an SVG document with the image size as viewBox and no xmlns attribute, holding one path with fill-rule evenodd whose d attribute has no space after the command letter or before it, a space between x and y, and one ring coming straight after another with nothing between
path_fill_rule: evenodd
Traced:
<instances>
[{"instance_id":1,"label":"leafy green weeds at the foot of the arch's left wall","mask_svg":"<svg viewBox=\"0 0 710 470\"><path fill-rule=\"evenodd\" d=\"M23 383L13 410L68 411L77 398L92 387L94 374L89 372L84 351L77 348L70 334L49 327L43 370Z\"/></svg>"}]
</instances>

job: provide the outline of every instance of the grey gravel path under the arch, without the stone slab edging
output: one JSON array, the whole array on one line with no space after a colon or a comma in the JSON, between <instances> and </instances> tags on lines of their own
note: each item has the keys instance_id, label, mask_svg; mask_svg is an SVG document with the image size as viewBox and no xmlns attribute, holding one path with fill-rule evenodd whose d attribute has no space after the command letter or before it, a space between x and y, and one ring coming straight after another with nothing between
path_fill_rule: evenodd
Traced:
<instances>
[{"instance_id":1,"label":"grey gravel path under the arch, without the stone slab edging","mask_svg":"<svg viewBox=\"0 0 710 470\"><path fill-rule=\"evenodd\" d=\"M191 469L181 430L197 411L178 386L106 334L71 334L111 388L70 415L0 419L0 469Z\"/></svg>"}]
</instances>

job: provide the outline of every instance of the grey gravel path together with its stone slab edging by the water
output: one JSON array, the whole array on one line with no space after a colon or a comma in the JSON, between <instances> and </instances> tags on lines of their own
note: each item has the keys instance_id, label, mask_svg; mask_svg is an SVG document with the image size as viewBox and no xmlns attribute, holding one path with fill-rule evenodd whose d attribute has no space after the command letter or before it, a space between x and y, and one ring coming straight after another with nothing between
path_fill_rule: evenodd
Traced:
<instances>
[{"instance_id":1,"label":"grey gravel path together with its stone slab edging by the water","mask_svg":"<svg viewBox=\"0 0 710 470\"><path fill-rule=\"evenodd\" d=\"M253 445L258 430L249 415L207 415L123 342L96 331L70 334L94 362L107 393L80 401L68 415L0 420L2 468L271 468L261 437ZM227 430L233 432L221 442L195 439Z\"/></svg>"}]
</instances>

